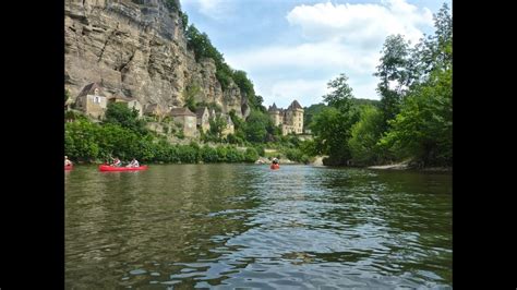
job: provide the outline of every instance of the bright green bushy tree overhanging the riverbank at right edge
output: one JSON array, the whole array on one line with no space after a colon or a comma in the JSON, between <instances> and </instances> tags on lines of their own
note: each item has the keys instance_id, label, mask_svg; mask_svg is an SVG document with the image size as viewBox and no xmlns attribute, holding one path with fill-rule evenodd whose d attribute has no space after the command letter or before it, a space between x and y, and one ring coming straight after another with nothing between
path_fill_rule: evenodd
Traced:
<instances>
[{"instance_id":1,"label":"bright green bushy tree overhanging the riverbank at right edge","mask_svg":"<svg viewBox=\"0 0 517 290\"><path fill-rule=\"evenodd\" d=\"M452 70L433 72L407 97L380 145L421 166L452 165Z\"/></svg>"}]
</instances>

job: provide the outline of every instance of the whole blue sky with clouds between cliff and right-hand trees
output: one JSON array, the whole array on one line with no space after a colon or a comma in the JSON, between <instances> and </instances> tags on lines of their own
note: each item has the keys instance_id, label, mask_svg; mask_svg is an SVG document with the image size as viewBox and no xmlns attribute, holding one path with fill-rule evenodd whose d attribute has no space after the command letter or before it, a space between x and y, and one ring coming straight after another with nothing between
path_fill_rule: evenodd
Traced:
<instances>
[{"instance_id":1,"label":"whole blue sky with clouds between cliff and right-hand trees","mask_svg":"<svg viewBox=\"0 0 517 290\"><path fill-rule=\"evenodd\" d=\"M323 101L327 83L345 73L357 98L380 99L378 65L384 40L401 34L414 45L434 33L431 0L180 0L226 62L248 73L266 108L297 99Z\"/></svg>"}]
</instances>

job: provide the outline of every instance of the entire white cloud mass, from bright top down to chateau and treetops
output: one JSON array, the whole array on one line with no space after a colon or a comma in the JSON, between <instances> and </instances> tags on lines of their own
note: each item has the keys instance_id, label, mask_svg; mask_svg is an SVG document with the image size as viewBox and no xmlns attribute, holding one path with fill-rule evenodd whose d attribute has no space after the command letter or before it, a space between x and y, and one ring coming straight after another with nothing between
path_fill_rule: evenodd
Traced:
<instances>
[{"instance_id":1,"label":"entire white cloud mass, from bright top down to chateau and treetops","mask_svg":"<svg viewBox=\"0 0 517 290\"><path fill-rule=\"evenodd\" d=\"M294 7L286 19L300 34L298 44L225 55L231 67L253 75L255 90L264 97L265 105L273 104L275 98L287 105L293 98L303 98L302 106L320 102L326 83L339 73L349 76L354 96L378 99L377 80L372 74L386 37L401 34L416 44L423 36L421 27L433 26L429 9L419 9L406 0L302 4Z\"/></svg>"}]
</instances>

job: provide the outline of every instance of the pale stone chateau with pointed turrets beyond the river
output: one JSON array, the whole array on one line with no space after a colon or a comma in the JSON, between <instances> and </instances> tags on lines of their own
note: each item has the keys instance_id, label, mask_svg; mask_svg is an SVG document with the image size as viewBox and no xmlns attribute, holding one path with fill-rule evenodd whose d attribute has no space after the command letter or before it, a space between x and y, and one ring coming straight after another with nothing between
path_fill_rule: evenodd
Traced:
<instances>
[{"instance_id":1,"label":"pale stone chateau with pointed turrets beyond the river","mask_svg":"<svg viewBox=\"0 0 517 290\"><path fill-rule=\"evenodd\" d=\"M303 108L298 100L293 100L287 109L278 109L273 102L267 111L275 125L281 126L282 135L303 133Z\"/></svg>"}]
</instances>

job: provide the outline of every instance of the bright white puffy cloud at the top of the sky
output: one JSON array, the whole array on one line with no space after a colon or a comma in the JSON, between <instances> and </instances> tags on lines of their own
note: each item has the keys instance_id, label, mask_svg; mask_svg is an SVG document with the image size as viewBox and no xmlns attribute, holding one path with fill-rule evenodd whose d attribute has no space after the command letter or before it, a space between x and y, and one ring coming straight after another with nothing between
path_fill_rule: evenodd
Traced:
<instances>
[{"instance_id":1,"label":"bright white puffy cloud at the top of the sky","mask_svg":"<svg viewBox=\"0 0 517 290\"><path fill-rule=\"evenodd\" d=\"M292 26L299 26L310 40L339 39L348 44L377 47L389 34L401 34L416 43L422 36L419 25L433 25L429 9L419 11L405 0L382 4L298 5L287 14Z\"/></svg>"}]
</instances>

